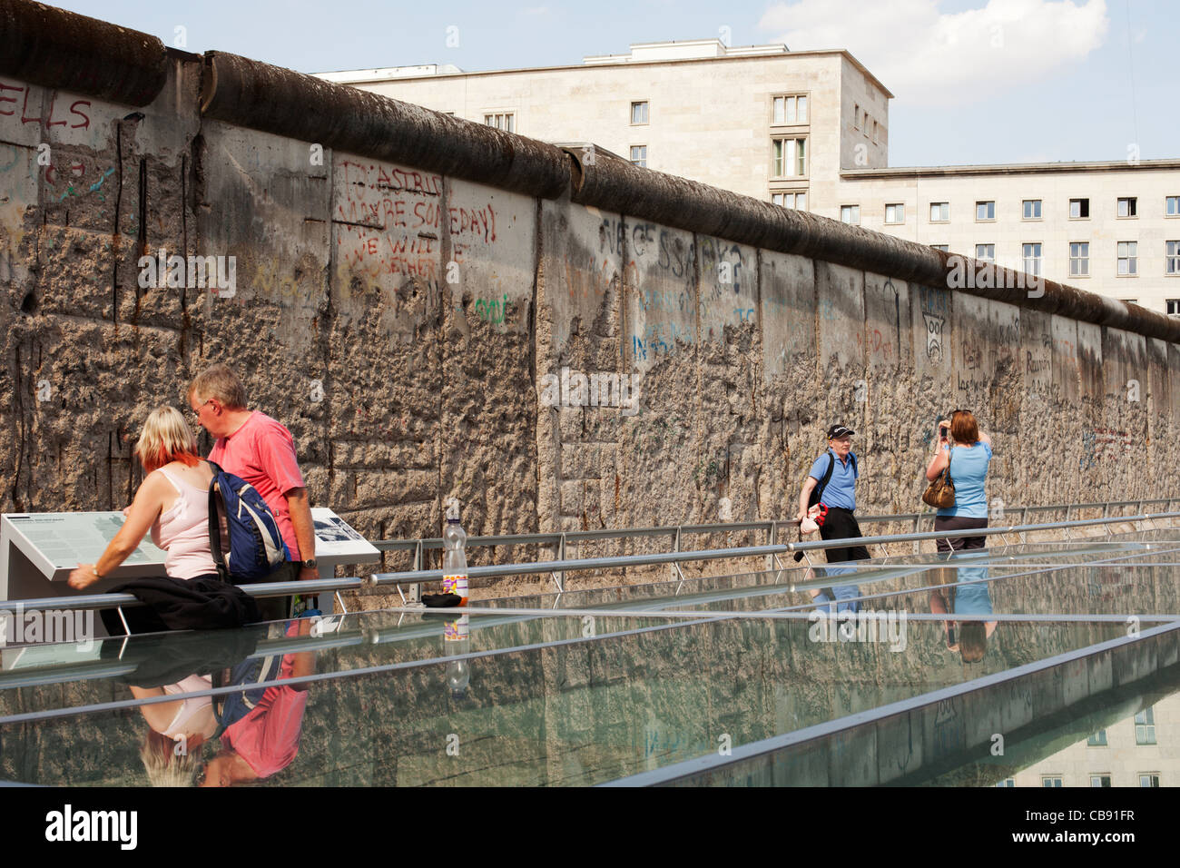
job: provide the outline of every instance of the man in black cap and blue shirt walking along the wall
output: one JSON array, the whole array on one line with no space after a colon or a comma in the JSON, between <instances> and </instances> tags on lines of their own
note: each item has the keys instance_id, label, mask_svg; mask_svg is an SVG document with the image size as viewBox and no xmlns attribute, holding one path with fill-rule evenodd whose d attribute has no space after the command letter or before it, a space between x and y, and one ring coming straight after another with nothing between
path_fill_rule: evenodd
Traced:
<instances>
[{"instance_id":1,"label":"man in black cap and blue shirt walking along the wall","mask_svg":"<svg viewBox=\"0 0 1180 868\"><path fill-rule=\"evenodd\" d=\"M802 521L814 503L821 503L826 508L824 523L819 528L820 536L825 540L847 540L861 535L860 526L857 524L857 518L853 515L857 508L857 477L860 475L857 469L857 456L852 451L852 435L856 431L844 425L832 425L827 430L828 449L812 464L804 488L799 492L799 515L796 516L799 521ZM838 563L866 559L868 549L864 546L852 546L850 548L831 548L825 554L828 563ZM828 569L830 574L834 572ZM851 609L856 612L859 608L856 598L860 595L860 592L856 586L837 586L833 590L837 600L840 601L838 611ZM821 593L820 598L826 598L826 595Z\"/></svg>"}]
</instances>

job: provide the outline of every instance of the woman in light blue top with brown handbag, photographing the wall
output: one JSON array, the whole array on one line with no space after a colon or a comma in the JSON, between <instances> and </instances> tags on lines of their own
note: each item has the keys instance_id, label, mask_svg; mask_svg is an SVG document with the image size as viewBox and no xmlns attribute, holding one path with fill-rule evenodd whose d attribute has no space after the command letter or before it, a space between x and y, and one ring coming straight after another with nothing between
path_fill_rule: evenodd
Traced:
<instances>
[{"instance_id":1,"label":"woman in light blue top with brown handbag, photographing the wall","mask_svg":"<svg viewBox=\"0 0 1180 868\"><path fill-rule=\"evenodd\" d=\"M988 527L988 497L983 490L991 462L991 438L979 430L970 410L956 410L938 423L938 448L926 466L933 482L950 464L955 505L939 509L935 530L974 530ZM983 548L982 536L939 540L939 552Z\"/></svg>"}]
</instances>

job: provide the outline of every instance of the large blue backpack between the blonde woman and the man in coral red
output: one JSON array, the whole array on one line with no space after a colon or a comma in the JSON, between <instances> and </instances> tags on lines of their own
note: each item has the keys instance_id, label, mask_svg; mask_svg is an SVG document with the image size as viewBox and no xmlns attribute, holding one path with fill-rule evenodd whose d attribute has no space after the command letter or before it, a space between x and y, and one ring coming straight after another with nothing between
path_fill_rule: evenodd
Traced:
<instances>
[{"instance_id":1,"label":"large blue backpack between the blonde woman and the man in coral red","mask_svg":"<svg viewBox=\"0 0 1180 868\"><path fill-rule=\"evenodd\" d=\"M254 485L227 474L214 462L209 465L214 469L209 483L209 548L217 574L222 581L235 585L266 581L290 560L278 522ZM222 518L229 537L224 542Z\"/></svg>"}]
</instances>

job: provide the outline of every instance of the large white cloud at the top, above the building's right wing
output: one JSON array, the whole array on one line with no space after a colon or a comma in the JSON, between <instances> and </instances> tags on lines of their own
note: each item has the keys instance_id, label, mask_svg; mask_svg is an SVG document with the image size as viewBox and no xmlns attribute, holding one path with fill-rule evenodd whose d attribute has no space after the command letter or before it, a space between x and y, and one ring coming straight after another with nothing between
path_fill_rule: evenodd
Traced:
<instances>
[{"instance_id":1,"label":"large white cloud at the top, above the building's right wing","mask_svg":"<svg viewBox=\"0 0 1180 868\"><path fill-rule=\"evenodd\" d=\"M775 4L759 28L792 51L847 48L907 103L957 104L1030 84L1097 48L1106 0L988 0L942 13L938 0Z\"/></svg>"}]
</instances>

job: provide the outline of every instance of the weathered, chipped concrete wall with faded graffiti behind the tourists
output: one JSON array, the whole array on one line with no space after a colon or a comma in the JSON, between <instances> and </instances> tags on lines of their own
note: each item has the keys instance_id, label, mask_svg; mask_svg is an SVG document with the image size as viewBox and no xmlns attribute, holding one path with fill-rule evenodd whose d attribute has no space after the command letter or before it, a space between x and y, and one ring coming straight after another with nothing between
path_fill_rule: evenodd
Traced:
<instances>
[{"instance_id":1,"label":"weathered, chipped concrete wall with faded graffiti behind the tourists","mask_svg":"<svg viewBox=\"0 0 1180 868\"><path fill-rule=\"evenodd\" d=\"M291 429L313 502L374 536L437 534L451 496L473 534L782 517L833 422L858 432L859 507L910 511L956 406L994 437L991 501L1178 488L1174 324L1069 287L951 291L937 252L687 182L661 198L602 155L571 200L542 143L465 143L481 183L431 168L454 155L245 129L238 103L201 116L214 67L170 54L138 113L0 77L0 509L126 503L138 426L215 360ZM267 80L234 68L242 93ZM413 148L451 130L391 112ZM236 286L142 287L159 249L232 256Z\"/></svg>"}]
</instances>

